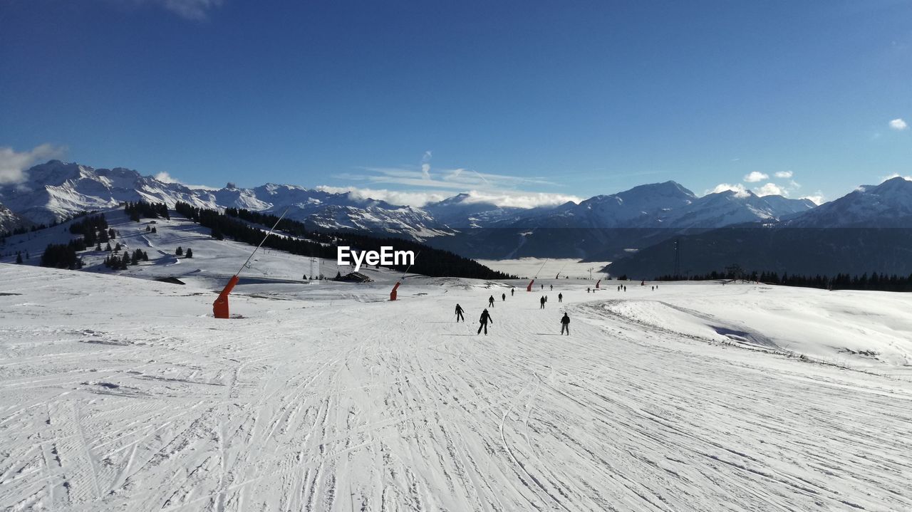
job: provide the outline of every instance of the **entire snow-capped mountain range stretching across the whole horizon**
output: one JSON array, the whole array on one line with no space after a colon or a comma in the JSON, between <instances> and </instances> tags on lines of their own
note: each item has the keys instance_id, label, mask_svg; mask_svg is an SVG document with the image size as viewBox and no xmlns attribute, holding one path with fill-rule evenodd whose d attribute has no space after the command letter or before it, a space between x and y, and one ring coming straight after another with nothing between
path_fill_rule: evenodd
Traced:
<instances>
[{"instance_id":1,"label":"entire snow-capped mountain range stretching across the whole horizon","mask_svg":"<svg viewBox=\"0 0 912 512\"><path fill-rule=\"evenodd\" d=\"M616 261L610 269L612 273L638 275L668 273L666 256L650 259L649 255L667 251L663 242L682 237L692 244L697 240L720 240L731 236L733 230L763 229L772 233L794 228L909 228L910 189L912 182L890 179L816 206L810 200L761 197L750 191L725 190L698 197L679 183L666 181L596 195L579 203L531 209L500 207L464 193L415 208L350 192L295 185L267 183L244 189L229 183L221 189L190 187L143 176L131 169L95 169L50 160L27 169L26 181L0 186L0 204L5 206L0 207L0 230L28 222L47 224L83 210L116 207L123 201L163 202L169 207L183 201L213 210L287 210L289 218L301 220L314 230L358 230L408 238L472 258L531 256ZM730 234L718 233L720 229ZM731 256L723 254L719 258ZM692 266L696 272L705 265Z\"/></svg>"}]
</instances>

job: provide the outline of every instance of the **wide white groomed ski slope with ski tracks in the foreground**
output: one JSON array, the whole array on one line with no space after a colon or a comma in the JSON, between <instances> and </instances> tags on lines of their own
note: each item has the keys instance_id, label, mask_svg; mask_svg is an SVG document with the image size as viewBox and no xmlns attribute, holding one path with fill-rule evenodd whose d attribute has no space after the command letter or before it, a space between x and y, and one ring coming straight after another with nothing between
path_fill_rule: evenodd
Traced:
<instances>
[{"instance_id":1,"label":"wide white groomed ski slope with ski tracks in the foreground","mask_svg":"<svg viewBox=\"0 0 912 512\"><path fill-rule=\"evenodd\" d=\"M912 509L908 295L390 279L0 264L0 507Z\"/></svg>"}]
</instances>

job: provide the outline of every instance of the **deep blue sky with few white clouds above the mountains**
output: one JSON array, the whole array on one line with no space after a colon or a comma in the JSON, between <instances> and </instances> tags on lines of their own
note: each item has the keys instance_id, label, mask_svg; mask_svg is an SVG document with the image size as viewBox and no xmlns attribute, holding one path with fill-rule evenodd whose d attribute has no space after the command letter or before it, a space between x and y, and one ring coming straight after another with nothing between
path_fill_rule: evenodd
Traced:
<instances>
[{"instance_id":1,"label":"deep blue sky with few white clouds above the mountains","mask_svg":"<svg viewBox=\"0 0 912 512\"><path fill-rule=\"evenodd\" d=\"M5 0L0 69L7 181L57 156L535 204L912 174L908 1Z\"/></svg>"}]
</instances>

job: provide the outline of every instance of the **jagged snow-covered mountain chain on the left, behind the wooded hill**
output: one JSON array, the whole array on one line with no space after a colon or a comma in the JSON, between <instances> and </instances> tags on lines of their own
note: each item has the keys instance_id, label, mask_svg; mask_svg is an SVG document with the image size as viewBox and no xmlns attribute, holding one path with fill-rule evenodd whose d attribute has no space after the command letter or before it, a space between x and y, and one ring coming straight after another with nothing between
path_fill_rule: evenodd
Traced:
<instances>
[{"instance_id":1,"label":"jagged snow-covered mountain chain on the left, behind the wooded hill","mask_svg":"<svg viewBox=\"0 0 912 512\"><path fill-rule=\"evenodd\" d=\"M267 183L254 189L232 184L223 189L195 189L142 176L131 169L94 169L51 160L27 171L28 179L0 187L0 202L26 219L49 223L83 210L103 210L123 201L183 201L199 208L244 208L280 213L324 230L368 230L416 240L449 233L422 211L294 185Z\"/></svg>"}]
</instances>

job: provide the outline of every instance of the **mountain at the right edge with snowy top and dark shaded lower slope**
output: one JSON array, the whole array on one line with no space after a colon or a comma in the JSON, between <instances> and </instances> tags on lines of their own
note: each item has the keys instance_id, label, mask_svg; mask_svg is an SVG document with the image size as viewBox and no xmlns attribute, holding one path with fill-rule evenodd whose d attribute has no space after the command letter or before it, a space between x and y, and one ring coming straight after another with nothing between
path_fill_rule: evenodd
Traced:
<instances>
[{"instance_id":1,"label":"mountain at the right edge with snowy top and dark shaded lower slope","mask_svg":"<svg viewBox=\"0 0 912 512\"><path fill-rule=\"evenodd\" d=\"M762 198L766 200L768 198ZM674 271L748 271L806 275L912 272L912 181L888 179L779 221L744 223L666 239L615 261L607 271L651 278Z\"/></svg>"}]
</instances>

